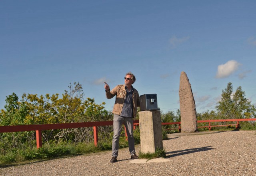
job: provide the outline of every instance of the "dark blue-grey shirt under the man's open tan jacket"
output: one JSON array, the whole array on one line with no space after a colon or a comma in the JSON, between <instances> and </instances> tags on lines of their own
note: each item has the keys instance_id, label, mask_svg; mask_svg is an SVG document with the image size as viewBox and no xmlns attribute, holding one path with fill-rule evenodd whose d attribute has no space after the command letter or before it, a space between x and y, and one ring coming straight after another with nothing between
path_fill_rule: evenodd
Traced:
<instances>
[{"instance_id":1,"label":"dark blue-grey shirt under the man's open tan jacket","mask_svg":"<svg viewBox=\"0 0 256 176\"><path fill-rule=\"evenodd\" d=\"M132 101L132 94L133 94L133 87L129 91L127 86L125 86L126 89L126 97L124 99L123 109L121 112L121 116L123 117L133 117L133 101Z\"/></svg>"}]
</instances>

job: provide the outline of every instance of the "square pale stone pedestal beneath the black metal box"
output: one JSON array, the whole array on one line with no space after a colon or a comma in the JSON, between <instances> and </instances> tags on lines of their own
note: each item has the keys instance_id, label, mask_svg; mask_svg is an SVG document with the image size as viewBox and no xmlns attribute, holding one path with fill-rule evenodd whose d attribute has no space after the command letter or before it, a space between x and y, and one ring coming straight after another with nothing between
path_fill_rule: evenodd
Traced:
<instances>
[{"instance_id":1,"label":"square pale stone pedestal beneath the black metal box","mask_svg":"<svg viewBox=\"0 0 256 176\"><path fill-rule=\"evenodd\" d=\"M140 150L143 153L155 153L157 148L163 148L160 111L141 111L139 118Z\"/></svg>"}]
</instances>

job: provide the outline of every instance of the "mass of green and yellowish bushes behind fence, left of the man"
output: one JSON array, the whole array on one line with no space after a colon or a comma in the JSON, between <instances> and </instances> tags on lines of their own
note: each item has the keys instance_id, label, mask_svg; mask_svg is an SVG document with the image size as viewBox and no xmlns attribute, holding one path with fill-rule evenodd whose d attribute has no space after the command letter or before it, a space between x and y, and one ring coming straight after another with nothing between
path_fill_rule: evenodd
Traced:
<instances>
[{"instance_id":1,"label":"mass of green and yellowish bushes behind fence, left of the man","mask_svg":"<svg viewBox=\"0 0 256 176\"><path fill-rule=\"evenodd\" d=\"M70 83L68 88L62 94L62 98L57 93L52 96L49 94L38 96L37 94L24 93L19 101L15 93L9 95L6 97L5 110L1 109L0 112L0 125L34 125L112 120L112 113L106 111L103 107L104 102L98 105L94 99L87 98L84 100L81 84ZM99 139L110 138L111 128L99 127ZM13 141L18 141L19 139L28 141L28 137L30 141L35 139L34 132L20 132L20 134L24 137L16 137ZM3 136L4 134L0 134L0 137L1 135ZM62 138L73 142L88 142L93 140L93 129L45 130L42 131L42 136L46 142ZM9 143L12 141L12 138L12 136L8 136ZM0 142L2 139L0 138Z\"/></svg>"}]
</instances>

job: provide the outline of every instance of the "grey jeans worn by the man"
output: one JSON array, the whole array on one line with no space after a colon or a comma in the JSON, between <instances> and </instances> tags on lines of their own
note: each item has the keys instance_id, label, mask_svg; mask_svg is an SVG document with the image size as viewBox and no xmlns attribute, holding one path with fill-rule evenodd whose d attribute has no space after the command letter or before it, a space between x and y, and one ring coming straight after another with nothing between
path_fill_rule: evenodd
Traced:
<instances>
[{"instance_id":1,"label":"grey jeans worn by the man","mask_svg":"<svg viewBox=\"0 0 256 176\"><path fill-rule=\"evenodd\" d=\"M114 114L114 134L112 139L112 156L118 156L119 138L121 133L122 124L126 127L126 133L128 136L129 151L131 154L135 153L134 136L133 136L133 119L132 117L122 117Z\"/></svg>"}]
</instances>

